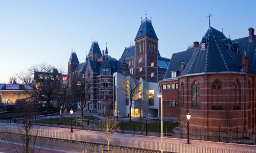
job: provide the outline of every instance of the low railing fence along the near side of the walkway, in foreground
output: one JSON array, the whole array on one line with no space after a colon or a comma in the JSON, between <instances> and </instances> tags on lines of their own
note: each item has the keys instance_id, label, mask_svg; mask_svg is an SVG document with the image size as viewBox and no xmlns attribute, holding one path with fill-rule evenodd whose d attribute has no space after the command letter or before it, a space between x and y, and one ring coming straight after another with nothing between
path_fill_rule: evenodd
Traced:
<instances>
[{"instance_id":1,"label":"low railing fence along the near side of the walkway, in foreground","mask_svg":"<svg viewBox=\"0 0 256 153\"><path fill-rule=\"evenodd\" d=\"M12 129L12 128L11 128ZM0 139L7 140L12 142L22 142L22 135L17 133L4 132L6 127L1 127ZM14 130L14 129L12 129ZM59 135L58 132L52 132L51 136ZM72 134L72 137L75 138L79 134ZM14 138L14 139L13 139ZM69 139L59 139L59 138L49 138L41 136L31 136L31 141L35 142L35 145L40 145L44 147L53 147L60 148L65 150L81 151L87 149L88 152L101 152L102 149L106 149L104 143L99 142L85 142L80 140L69 140ZM117 142L126 144L130 146L124 146L117 144ZM132 147L131 147L132 146ZM139 146L139 147L138 147ZM110 149L113 152L148 152L148 153L157 153L160 152L161 143L159 142L147 142L147 141L138 141L138 140L126 140L119 139L115 140L115 144L110 145ZM255 151L246 151L246 150L237 150L229 148L217 148L217 147L205 147L197 145L187 145L187 144L172 144L172 143L163 143L164 152L209 152L209 153L253 153Z\"/></svg>"}]
</instances>

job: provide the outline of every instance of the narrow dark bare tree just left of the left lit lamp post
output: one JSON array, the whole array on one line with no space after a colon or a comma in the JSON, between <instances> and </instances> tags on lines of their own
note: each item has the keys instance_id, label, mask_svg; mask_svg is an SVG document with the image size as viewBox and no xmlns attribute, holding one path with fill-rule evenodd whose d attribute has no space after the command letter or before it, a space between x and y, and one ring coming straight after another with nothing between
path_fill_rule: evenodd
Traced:
<instances>
[{"instance_id":1,"label":"narrow dark bare tree just left of the left lit lamp post","mask_svg":"<svg viewBox=\"0 0 256 153\"><path fill-rule=\"evenodd\" d=\"M68 106L74 100L74 88L70 83L70 79L60 82L60 86L58 89L58 96L56 98L57 105L60 109L60 118L59 123L62 123L63 112L68 108Z\"/></svg>"}]
</instances>

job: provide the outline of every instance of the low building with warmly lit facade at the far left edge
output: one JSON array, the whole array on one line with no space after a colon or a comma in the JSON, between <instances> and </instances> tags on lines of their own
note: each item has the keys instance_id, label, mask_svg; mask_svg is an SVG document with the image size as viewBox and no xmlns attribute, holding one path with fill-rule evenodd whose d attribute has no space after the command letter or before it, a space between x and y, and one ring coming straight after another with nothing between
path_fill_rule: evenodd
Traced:
<instances>
[{"instance_id":1,"label":"low building with warmly lit facade at the far left edge","mask_svg":"<svg viewBox=\"0 0 256 153\"><path fill-rule=\"evenodd\" d=\"M29 85L0 84L0 104L15 105L17 100L26 98L28 92L32 91Z\"/></svg>"}]
</instances>

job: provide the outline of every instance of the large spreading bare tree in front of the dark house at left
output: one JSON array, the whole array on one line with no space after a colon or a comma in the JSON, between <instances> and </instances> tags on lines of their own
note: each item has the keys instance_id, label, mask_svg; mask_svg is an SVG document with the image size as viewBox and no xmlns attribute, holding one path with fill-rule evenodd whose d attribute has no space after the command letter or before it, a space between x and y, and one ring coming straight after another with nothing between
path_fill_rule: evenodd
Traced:
<instances>
[{"instance_id":1,"label":"large spreading bare tree in front of the dark house at left","mask_svg":"<svg viewBox=\"0 0 256 153\"><path fill-rule=\"evenodd\" d=\"M51 101L58 95L58 89L61 82L61 73L59 70L48 64L39 64L32 66L26 72L17 74L17 78L23 84L31 87L38 101L47 101L47 109L50 109Z\"/></svg>"}]
</instances>

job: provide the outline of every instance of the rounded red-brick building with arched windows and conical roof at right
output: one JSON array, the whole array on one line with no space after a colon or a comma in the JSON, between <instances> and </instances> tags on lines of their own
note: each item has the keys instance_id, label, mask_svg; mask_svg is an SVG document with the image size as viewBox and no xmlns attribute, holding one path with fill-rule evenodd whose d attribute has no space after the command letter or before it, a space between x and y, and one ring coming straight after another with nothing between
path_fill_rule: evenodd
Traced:
<instances>
[{"instance_id":1,"label":"rounded red-brick building with arched windows and conical roof at right","mask_svg":"<svg viewBox=\"0 0 256 153\"><path fill-rule=\"evenodd\" d=\"M170 60L164 80L163 116L191 129L251 131L256 123L256 37L230 40L209 26L194 42Z\"/></svg>"}]
</instances>

